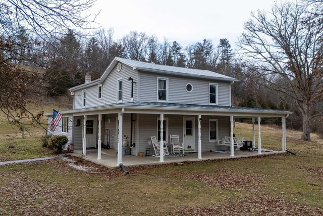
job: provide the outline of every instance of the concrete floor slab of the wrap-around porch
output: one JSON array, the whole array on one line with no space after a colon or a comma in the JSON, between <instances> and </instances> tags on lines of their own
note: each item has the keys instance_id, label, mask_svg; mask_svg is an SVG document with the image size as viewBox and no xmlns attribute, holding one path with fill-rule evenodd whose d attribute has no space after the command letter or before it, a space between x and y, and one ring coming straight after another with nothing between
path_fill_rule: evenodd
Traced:
<instances>
[{"instance_id":1,"label":"concrete floor slab of the wrap-around porch","mask_svg":"<svg viewBox=\"0 0 323 216\"><path fill-rule=\"evenodd\" d=\"M117 168L117 150L115 149L102 149L101 160L97 160L97 149L87 149L86 156L84 159L98 163L110 168ZM261 152L262 155L282 153L282 151L273 152ZM82 150L74 150L73 155L82 154ZM159 162L159 157L154 156L133 156L133 155L122 155L122 163L124 166L138 166L138 165L151 165L151 164L163 164L173 162L184 162L184 161L203 161L208 159L225 159L225 158L240 158L240 157L251 157L258 155L258 151L235 151L235 157L230 156L229 153L217 153L217 152L202 152L202 159L197 159L197 153L185 154L183 157L166 157L165 162Z\"/></svg>"}]
</instances>

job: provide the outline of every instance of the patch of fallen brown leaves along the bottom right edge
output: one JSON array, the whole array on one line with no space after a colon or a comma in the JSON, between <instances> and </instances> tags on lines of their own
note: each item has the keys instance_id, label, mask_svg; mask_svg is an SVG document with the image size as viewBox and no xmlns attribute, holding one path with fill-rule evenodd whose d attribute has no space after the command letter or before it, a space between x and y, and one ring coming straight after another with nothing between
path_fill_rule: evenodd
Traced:
<instances>
[{"instance_id":1,"label":"patch of fallen brown leaves along the bottom right edge","mask_svg":"<svg viewBox=\"0 0 323 216\"><path fill-rule=\"evenodd\" d=\"M323 215L323 209L262 195L228 198L225 204L219 206L184 208L174 215Z\"/></svg>"}]
</instances>

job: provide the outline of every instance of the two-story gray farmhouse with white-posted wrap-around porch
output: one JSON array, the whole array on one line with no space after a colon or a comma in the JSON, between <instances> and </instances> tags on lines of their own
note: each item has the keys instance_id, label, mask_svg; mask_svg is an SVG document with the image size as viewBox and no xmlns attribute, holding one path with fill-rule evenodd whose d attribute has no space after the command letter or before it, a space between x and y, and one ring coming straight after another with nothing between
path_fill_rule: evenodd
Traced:
<instances>
[{"instance_id":1,"label":"two-story gray farmhouse with white-posted wrap-around porch","mask_svg":"<svg viewBox=\"0 0 323 216\"><path fill-rule=\"evenodd\" d=\"M218 145L224 137L233 137L234 117L250 117L253 122L257 118L259 132L261 117L281 117L285 151L285 118L290 112L232 107L231 85L235 81L207 70L116 57L99 79L91 81L87 75L84 84L70 89L73 110L61 111L60 126L52 134L68 136L74 149L83 149L83 154L88 148L97 148L98 159L101 145L109 142L110 148L118 150L117 164L122 161L125 137L135 156L147 147L152 149L151 136L160 141L162 149L171 135L179 135L184 149L197 152L198 158L203 151L224 148L234 156L233 144ZM159 161L164 161L163 153Z\"/></svg>"}]
</instances>

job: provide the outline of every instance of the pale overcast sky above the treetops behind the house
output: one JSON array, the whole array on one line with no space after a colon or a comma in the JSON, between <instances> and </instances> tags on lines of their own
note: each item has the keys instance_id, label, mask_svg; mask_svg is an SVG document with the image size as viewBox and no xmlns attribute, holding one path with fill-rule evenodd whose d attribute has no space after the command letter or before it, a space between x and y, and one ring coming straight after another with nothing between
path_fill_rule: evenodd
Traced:
<instances>
[{"instance_id":1,"label":"pale overcast sky above the treetops behind the house","mask_svg":"<svg viewBox=\"0 0 323 216\"><path fill-rule=\"evenodd\" d=\"M101 10L97 22L106 29L115 30L115 39L132 30L177 40L182 47L212 39L228 38L234 47L243 31L243 23L250 19L251 11L270 10L274 0L97 0L94 12Z\"/></svg>"}]
</instances>

